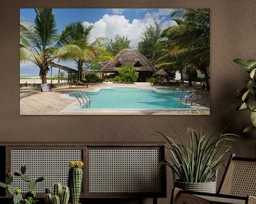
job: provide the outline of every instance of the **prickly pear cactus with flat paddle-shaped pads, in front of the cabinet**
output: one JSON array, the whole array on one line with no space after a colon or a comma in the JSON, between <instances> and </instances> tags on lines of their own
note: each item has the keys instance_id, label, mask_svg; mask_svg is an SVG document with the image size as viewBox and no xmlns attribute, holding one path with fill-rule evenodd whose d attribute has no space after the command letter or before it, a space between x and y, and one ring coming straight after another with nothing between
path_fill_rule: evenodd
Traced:
<instances>
[{"instance_id":1,"label":"prickly pear cactus with flat paddle-shaped pads, in front of the cabinet","mask_svg":"<svg viewBox=\"0 0 256 204\"><path fill-rule=\"evenodd\" d=\"M23 181L28 182L28 193L26 193L25 197L23 198L21 194L20 188L13 188L11 183L14 181L14 176L20 177ZM26 166L21 165L21 172L8 172L6 176L6 183L0 182L0 186L3 188L7 188L7 191L13 196L13 203L14 204L35 204L38 203L36 199L36 186L38 182L45 180L45 176L41 176L38 179L31 179L28 175L26 175Z\"/></svg>"}]
</instances>

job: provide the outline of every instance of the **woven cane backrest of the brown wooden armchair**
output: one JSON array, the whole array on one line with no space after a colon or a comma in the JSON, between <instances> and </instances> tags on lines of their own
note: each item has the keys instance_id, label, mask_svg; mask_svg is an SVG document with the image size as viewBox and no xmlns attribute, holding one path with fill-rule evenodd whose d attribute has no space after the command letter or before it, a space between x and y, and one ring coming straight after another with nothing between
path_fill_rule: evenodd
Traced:
<instances>
[{"instance_id":1,"label":"woven cane backrest of the brown wooden armchair","mask_svg":"<svg viewBox=\"0 0 256 204\"><path fill-rule=\"evenodd\" d=\"M256 196L256 159L231 155L218 193Z\"/></svg>"}]
</instances>

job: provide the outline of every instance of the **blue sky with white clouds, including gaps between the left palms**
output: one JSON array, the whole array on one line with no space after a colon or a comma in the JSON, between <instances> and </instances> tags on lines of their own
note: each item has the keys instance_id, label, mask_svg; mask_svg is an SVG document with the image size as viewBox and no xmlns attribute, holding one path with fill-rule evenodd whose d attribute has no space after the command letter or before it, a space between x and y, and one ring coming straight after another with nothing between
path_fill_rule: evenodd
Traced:
<instances>
[{"instance_id":1,"label":"blue sky with white clouds, including gaps between the left palms","mask_svg":"<svg viewBox=\"0 0 256 204\"><path fill-rule=\"evenodd\" d=\"M94 28L90 32L89 40L93 42L98 37L108 39L115 35L124 35L130 41L132 48L137 47L146 26L159 21L162 29L173 26L170 13L176 11L171 8L55 8L55 21L60 33L65 24L80 21L85 26L92 25ZM20 9L20 21L31 21L35 18L33 8ZM68 67L75 68L72 62L60 62ZM20 66L21 76L38 76L38 67L26 63ZM53 69L53 75L57 74L57 69Z\"/></svg>"}]
</instances>

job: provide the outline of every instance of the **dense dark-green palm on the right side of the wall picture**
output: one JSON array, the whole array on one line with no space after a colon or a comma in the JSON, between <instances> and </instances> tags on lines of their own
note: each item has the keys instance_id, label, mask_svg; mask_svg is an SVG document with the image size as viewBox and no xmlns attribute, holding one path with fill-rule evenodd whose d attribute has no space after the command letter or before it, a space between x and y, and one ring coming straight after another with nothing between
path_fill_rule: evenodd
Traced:
<instances>
[{"instance_id":1,"label":"dense dark-green palm on the right side of the wall picture","mask_svg":"<svg viewBox=\"0 0 256 204\"><path fill-rule=\"evenodd\" d=\"M208 84L210 63L210 12L209 9L186 9L181 19L174 19L177 25L167 28L162 38L168 40L164 55L158 61L178 62L187 69L201 70Z\"/></svg>"}]
</instances>

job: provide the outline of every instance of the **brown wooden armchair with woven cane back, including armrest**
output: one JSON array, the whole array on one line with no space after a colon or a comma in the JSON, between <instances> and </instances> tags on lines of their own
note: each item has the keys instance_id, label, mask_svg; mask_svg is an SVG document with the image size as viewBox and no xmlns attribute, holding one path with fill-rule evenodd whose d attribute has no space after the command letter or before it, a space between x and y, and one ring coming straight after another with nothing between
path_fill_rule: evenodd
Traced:
<instances>
[{"instance_id":1,"label":"brown wooden armchair with woven cane back, including armrest","mask_svg":"<svg viewBox=\"0 0 256 204\"><path fill-rule=\"evenodd\" d=\"M232 154L220 183L218 193L198 193L174 188L172 204L256 203L256 159Z\"/></svg>"}]
</instances>

